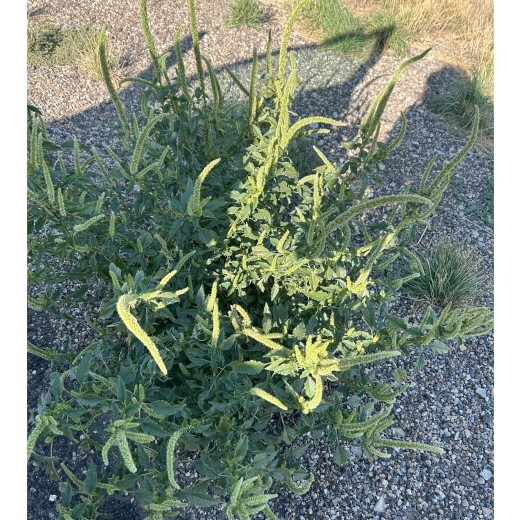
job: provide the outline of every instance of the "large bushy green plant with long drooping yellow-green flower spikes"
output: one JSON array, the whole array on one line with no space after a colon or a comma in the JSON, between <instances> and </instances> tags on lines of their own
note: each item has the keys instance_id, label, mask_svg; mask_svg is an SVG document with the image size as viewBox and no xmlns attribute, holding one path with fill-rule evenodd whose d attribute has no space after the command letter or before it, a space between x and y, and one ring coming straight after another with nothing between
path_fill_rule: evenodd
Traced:
<instances>
[{"instance_id":1,"label":"large bushy green plant with long drooping yellow-green flower spikes","mask_svg":"<svg viewBox=\"0 0 520 520\"><path fill-rule=\"evenodd\" d=\"M491 327L480 308L428 309L418 324L388 311L410 278L389 277L392 264L407 258L410 276L419 272L406 232L433 213L467 148L432 182L425 175L418 192L367 197L400 139L377 136L409 60L339 164L307 146L320 162L300 171L293 151L305 153L309 126L342 123L292 116L294 19L278 71L258 70L242 85L243 104L221 98L200 54L188 84L179 46L179 74L168 77L149 42L157 66L141 111L127 114L109 83L121 118L117 152L51 143L31 109L29 305L64 314L82 302L93 313L94 339L81 353L30 346L52 374L29 452L55 478L61 461L43 454L42 439L66 436L103 462L84 480L61 466L63 518L98 518L108 496L128 494L150 519L223 502L229 518L272 519L268 502L282 485L295 493L312 485L299 459L307 433L333 449L348 440L367 456L442 451L388 437L407 378L396 371L377 381L373 367L411 353L424 360L447 351L443 340ZM195 33L193 10L191 22ZM200 476L189 487L176 476L185 451Z\"/></svg>"}]
</instances>

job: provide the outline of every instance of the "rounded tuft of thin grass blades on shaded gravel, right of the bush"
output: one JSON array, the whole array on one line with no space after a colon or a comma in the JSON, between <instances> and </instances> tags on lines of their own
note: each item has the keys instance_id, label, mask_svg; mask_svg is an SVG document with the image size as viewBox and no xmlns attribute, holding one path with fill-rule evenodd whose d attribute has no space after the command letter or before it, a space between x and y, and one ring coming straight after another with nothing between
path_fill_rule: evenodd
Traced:
<instances>
[{"instance_id":1,"label":"rounded tuft of thin grass blades on shaded gravel, right of the bush","mask_svg":"<svg viewBox=\"0 0 520 520\"><path fill-rule=\"evenodd\" d=\"M471 303L485 285L477 253L459 241L443 238L429 250L419 252L424 274L404 286L414 298L437 309Z\"/></svg>"}]
</instances>

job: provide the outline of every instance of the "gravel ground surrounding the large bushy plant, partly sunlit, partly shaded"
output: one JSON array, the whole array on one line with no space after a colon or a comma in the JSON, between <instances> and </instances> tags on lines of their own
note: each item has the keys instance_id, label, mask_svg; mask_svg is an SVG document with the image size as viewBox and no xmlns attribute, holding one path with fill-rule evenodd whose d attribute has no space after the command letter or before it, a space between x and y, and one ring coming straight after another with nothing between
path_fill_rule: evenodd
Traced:
<instances>
[{"instance_id":1,"label":"gravel ground surrounding the large bushy plant, partly sunlit, partly shaded","mask_svg":"<svg viewBox=\"0 0 520 520\"><path fill-rule=\"evenodd\" d=\"M190 48L186 2L150 0L150 22L158 49L171 45L177 27L183 27L183 49ZM199 29L202 52L217 70L233 65L246 75L254 46L265 50L268 29L273 41L280 40L285 15L269 8L270 19L262 30L227 30L222 23L228 1L199 0ZM44 20L73 26L81 20L94 26L106 23L116 48L126 64L125 74L137 75L149 66L147 51L139 29L138 2L135 0L30 0L28 24ZM302 35L291 39L302 79L295 110L300 116L327 115L351 123L350 129L334 131L316 138L318 145L333 158L341 157L339 144L355 129L375 93L388 80L400 60L374 53L365 58L347 59L323 51ZM276 45L275 45L276 48ZM422 50L422 49L414 49ZM193 72L188 61L188 72ZM396 133L400 111L407 111L407 137L389 160L384 171L384 187L377 192L398 191L403 184L416 184L434 153L440 162L453 156L466 137L429 112L424 100L439 91L455 69L440 61L434 52L415 64L400 83L389 103L382 128L383 137ZM109 125L115 113L104 85L89 78L76 67L49 69L29 67L28 102L43 110L49 131L57 140L77 137L90 144L110 142ZM233 86L227 82L233 95ZM136 103L139 90L123 89L127 105ZM476 248L482 270L490 279L482 287L478 304L493 306L493 231L474 212L486 196L485 186L493 177L493 157L474 149L457 172L456 185L450 187L432 219L431 230L421 240L436 242L449 235ZM464 199L460 198L464 194ZM482 205L481 205L482 206ZM420 313L402 300L400 312ZM44 314L29 314L28 338L37 345L62 345L72 338L81 348L88 331L57 321ZM409 361L411 365L413 360ZM46 388L49 370L46 362L29 356L28 415L34 414L40 393ZM273 510L284 520L375 519L412 520L423 518L481 519L493 517L493 337L473 338L446 356L431 355L420 378L412 383L396 405L395 435L440 444L445 455L395 453L389 460L363 458L357 449L348 448L350 460L338 467L333 451L313 441L301 459L302 468L313 471L316 481L302 497L283 490L273 501ZM189 481L189 464L179 468ZM52 499L59 495L55 482L48 480L43 468L29 467L29 519L54 518ZM108 504L116 519L144 518L142 511L129 503ZM223 518L219 511L188 509L179 518Z\"/></svg>"}]
</instances>

